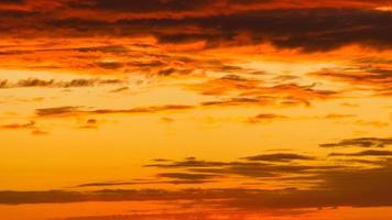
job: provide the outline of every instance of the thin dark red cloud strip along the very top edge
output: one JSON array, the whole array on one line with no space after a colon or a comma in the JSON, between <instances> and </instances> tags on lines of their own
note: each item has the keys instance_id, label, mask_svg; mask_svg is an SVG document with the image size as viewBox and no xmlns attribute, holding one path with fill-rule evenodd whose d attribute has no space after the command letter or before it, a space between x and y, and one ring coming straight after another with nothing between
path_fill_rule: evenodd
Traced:
<instances>
[{"instance_id":1,"label":"thin dark red cloud strip along the very top edge","mask_svg":"<svg viewBox=\"0 0 392 220\"><path fill-rule=\"evenodd\" d=\"M68 7L73 9L87 9L89 11L113 11L127 13L163 13L163 12L194 12L197 15L202 13L219 13L219 9L226 8L226 13L236 13L241 10L251 10L260 8L306 8L306 7L349 7L356 4L362 6L379 6L384 1L367 1L367 0L350 0L346 4L339 4L337 1L318 1L313 4L302 0L285 1L285 0L149 0L149 3L142 0L86 0L75 1L69 0ZM237 10L236 10L237 9ZM220 12L221 13L221 12Z\"/></svg>"}]
</instances>

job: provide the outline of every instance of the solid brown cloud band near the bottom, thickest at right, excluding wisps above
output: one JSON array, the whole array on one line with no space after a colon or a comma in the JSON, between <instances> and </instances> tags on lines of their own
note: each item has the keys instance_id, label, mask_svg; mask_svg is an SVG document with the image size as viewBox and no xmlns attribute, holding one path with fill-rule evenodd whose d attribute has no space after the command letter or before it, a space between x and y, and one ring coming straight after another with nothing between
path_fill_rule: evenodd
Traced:
<instances>
[{"instance_id":1,"label":"solid brown cloud band near the bottom, thickest at right, excluding wisps above","mask_svg":"<svg viewBox=\"0 0 392 220\"><path fill-rule=\"evenodd\" d=\"M380 168L320 172L323 182L311 189L182 189L182 190L96 190L96 191L0 191L0 204L43 204L78 201L174 201L189 200L219 209L296 209L322 207L392 206L390 164ZM314 177L312 177L314 178ZM372 186L372 187L369 187ZM380 196L382 195L382 196Z\"/></svg>"}]
</instances>

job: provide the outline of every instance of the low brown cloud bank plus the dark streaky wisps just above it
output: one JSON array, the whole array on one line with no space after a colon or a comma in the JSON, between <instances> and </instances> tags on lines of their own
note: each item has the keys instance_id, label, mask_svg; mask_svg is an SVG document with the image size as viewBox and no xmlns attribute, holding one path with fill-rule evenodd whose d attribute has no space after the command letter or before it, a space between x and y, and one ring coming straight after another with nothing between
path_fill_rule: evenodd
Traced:
<instances>
[{"instance_id":1,"label":"low brown cloud bank plus the dark streaky wisps just above it","mask_svg":"<svg viewBox=\"0 0 392 220\"><path fill-rule=\"evenodd\" d=\"M329 156L390 156L389 151L330 154ZM284 162L285 164L275 164ZM292 163L295 162L295 163ZM99 189L83 191L0 191L0 204L63 204L83 201L187 201L213 210L295 210L324 207L391 207L392 161L389 157L358 166L345 166L329 158L276 153L243 157L241 161L214 162L196 157L183 161L154 160L146 167L160 168L156 179L137 182L102 182L78 187L121 187L153 184L154 189ZM362 162L361 162L362 163ZM173 170L174 169L174 170ZM159 184L219 183L219 179L242 177L241 183L295 183L292 187L271 188L179 188L160 189ZM305 185L304 185L305 184ZM307 184L312 184L311 187ZM207 186L207 185L206 185ZM243 185L242 185L243 186ZM280 185L277 185L280 186ZM380 196L382 195L382 196Z\"/></svg>"}]
</instances>

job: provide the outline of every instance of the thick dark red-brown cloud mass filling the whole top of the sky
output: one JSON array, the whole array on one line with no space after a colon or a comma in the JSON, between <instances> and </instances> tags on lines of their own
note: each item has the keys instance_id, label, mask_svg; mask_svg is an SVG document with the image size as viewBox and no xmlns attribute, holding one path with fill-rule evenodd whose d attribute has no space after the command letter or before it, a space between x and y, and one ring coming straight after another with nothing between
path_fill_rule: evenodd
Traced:
<instances>
[{"instance_id":1,"label":"thick dark red-brown cloud mass filling the whole top of the sky","mask_svg":"<svg viewBox=\"0 0 392 220\"><path fill-rule=\"evenodd\" d=\"M153 36L161 44L205 42L206 47L271 43L277 48L300 48L303 52L330 51L351 44L377 48L392 46L389 12L373 10L382 1L366 9L355 6L371 6L370 1L350 1L352 7L342 8L328 1L314 7L306 7L309 3L305 1L292 3L297 7L284 7L290 6L290 1L280 4L265 0L151 1L151 4L139 0L62 1L63 6L47 6L47 11L36 7L45 4L44 1L28 1L30 10L10 9L2 13L4 22L0 30L8 29L7 34L2 32L3 36L18 37L23 37L23 33L31 33L32 37ZM265 4L276 7L263 7ZM50 12L50 7L55 7L55 10ZM219 12L221 8L228 9L226 13ZM84 13L90 15L84 16ZM24 18L26 23L15 18ZM119 67L101 65L104 68Z\"/></svg>"}]
</instances>

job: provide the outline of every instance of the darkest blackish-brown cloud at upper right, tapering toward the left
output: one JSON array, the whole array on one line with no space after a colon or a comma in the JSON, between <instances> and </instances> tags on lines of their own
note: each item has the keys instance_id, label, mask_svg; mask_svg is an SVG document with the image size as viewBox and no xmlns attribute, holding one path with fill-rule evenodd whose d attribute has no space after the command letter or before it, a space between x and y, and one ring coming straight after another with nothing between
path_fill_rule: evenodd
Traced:
<instances>
[{"instance_id":1,"label":"darkest blackish-brown cloud at upper right, tapering toward the left","mask_svg":"<svg viewBox=\"0 0 392 220\"><path fill-rule=\"evenodd\" d=\"M132 24L134 21L127 21ZM230 15L188 20L144 21L153 28L196 25L203 33L173 33L156 36L161 43L207 41L219 44L255 44L270 42L280 48L302 48L305 52L330 51L353 43L390 47L391 16L389 12L371 10L272 10L249 11ZM298 25L301 24L301 25ZM154 30L154 29L153 29ZM244 34L246 40L236 41Z\"/></svg>"}]
</instances>

